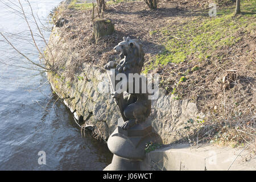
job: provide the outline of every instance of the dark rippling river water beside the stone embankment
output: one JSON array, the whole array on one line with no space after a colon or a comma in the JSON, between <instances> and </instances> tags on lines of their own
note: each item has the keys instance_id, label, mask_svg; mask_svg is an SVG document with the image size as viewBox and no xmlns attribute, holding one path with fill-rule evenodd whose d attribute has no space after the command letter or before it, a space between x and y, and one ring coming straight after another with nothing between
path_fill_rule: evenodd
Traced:
<instances>
[{"instance_id":1,"label":"dark rippling river water beside the stone embankment","mask_svg":"<svg viewBox=\"0 0 256 182\"><path fill-rule=\"evenodd\" d=\"M28 3L20 2L35 32L36 43L43 49L45 45ZM49 11L60 1L30 3L36 18L42 21L39 26L43 27L47 26ZM0 0L0 32L20 52L39 63L38 52L17 5L17 0ZM43 34L48 40L50 32ZM0 61L0 170L102 170L111 163L112 154L104 142L91 137L88 131L85 137L81 136L72 113L52 93L46 74L31 70L39 68L3 42L1 35ZM46 158L40 151L45 152ZM42 164L42 159L46 159L46 164Z\"/></svg>"}]
</instances>

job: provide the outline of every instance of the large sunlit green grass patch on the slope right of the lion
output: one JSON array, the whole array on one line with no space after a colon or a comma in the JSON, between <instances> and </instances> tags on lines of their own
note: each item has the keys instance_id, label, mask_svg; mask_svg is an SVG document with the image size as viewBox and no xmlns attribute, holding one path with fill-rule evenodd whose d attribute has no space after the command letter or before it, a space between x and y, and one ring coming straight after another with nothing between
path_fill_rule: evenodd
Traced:
<instances>
[{"instance_id":1,"label":"large sunlit green grass patch on the slope right of the lion","mask_svg":"<svg viewBox=\"0 0 256 182\"><path fill-rule=\"evenodd\" d=\"M233 17L235 7L230 6L217 10L216 17L201 14L190 22L158 30L158 34L162 36L164 51L155 56L155 60L147 65L144 72L170 62L182 63L189 56L197 61L214 58L214 51L233 46L241 40L238 32L249 33L255 30L255 2L242 1L240 16ZM153 35L156 30L151 32Z\"/></svg>"}]
</instances>

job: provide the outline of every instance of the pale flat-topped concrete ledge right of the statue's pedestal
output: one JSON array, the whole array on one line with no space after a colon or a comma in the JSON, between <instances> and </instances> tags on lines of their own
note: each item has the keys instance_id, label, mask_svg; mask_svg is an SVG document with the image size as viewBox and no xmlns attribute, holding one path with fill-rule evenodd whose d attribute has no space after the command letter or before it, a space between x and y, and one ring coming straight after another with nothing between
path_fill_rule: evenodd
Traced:
<instances>
[{"instance_id":1,"label":"pale flat-topped concrete ledge right of the statue's pedestal","mask_svg":"<svg viewBox=\"0 0 256 182\"><path fill-rule=\"evenodd\" d=\"M241 152L241 150L211 145L196 148L190 147L189 144L177 144L149 152L141 168L168 171L226 171L228 169L254 171L256 169L255 155L246 150Z\"/></svg>"}]
</instances>

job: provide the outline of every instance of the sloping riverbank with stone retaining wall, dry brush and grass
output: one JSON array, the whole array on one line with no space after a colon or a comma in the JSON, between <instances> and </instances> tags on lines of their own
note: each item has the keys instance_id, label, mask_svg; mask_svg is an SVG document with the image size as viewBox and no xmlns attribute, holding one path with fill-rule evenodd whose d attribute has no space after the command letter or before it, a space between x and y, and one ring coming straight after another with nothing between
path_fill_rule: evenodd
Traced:
<instances>
[{"instance_id":1,"label":"sloping riverbank with stone retaining wall, dry brush and grass","mask_svg":"<svg viewBox=\"0 0 256 182\"><path fill-rule=\"evenodd\" d=\"M52 16L46 56L56 72L48 80L96 138L107 140L119 118L110 94L101 89L108 85L102 67L118 59L113 47L123 36L139 36L146 52L144 73L160 75L162 93L152 103L150 118L164 144L236 147L254 140L253 1L242 3L244 13L236 18L234 5L219 6L217 16L209 17L208 1L160 2L156 11L143 1L116 3L105 12L115 32L97 43L92 9L80 6L61 5Z\"/></svg>"}]
</instances>

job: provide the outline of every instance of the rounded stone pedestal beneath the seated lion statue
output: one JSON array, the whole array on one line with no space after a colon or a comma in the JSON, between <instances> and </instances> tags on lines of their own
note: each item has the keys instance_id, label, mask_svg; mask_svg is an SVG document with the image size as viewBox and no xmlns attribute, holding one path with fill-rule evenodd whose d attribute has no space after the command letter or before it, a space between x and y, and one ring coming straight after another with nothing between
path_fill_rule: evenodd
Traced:
<instances>
[{"instance_id":1,"label":"rounded stone pedestal beneath the seated lion statue","mask_svg":"<svg viewBox=\"0 0 256 182\"><path fill-rule=\"evenodd\" d=\"M118 119L118 127L108 139L109 150L114 154L112 163L104 171L139 171L141 162L146 158L146 143L162 144L162 139L152 131L147 120L129 130L122 130L123 119Z\"/></svg>"}]
</instances>

